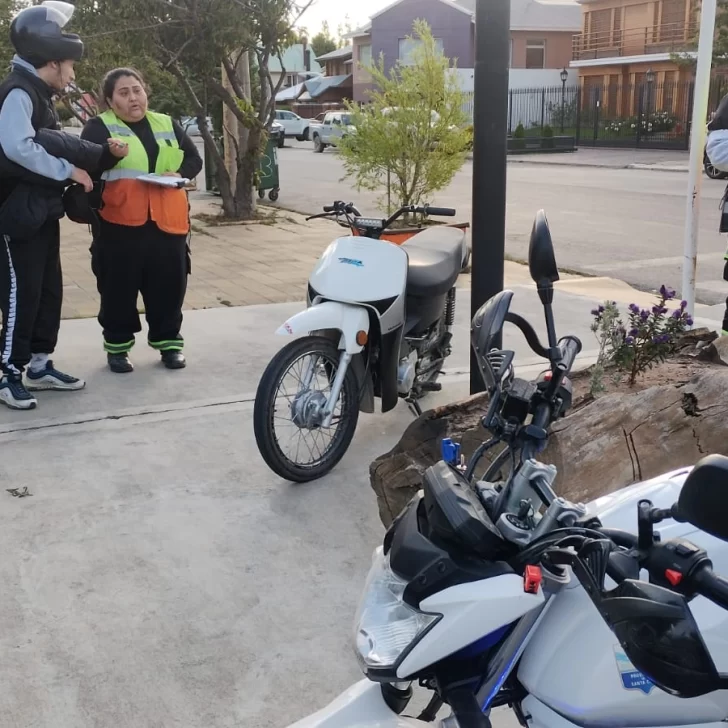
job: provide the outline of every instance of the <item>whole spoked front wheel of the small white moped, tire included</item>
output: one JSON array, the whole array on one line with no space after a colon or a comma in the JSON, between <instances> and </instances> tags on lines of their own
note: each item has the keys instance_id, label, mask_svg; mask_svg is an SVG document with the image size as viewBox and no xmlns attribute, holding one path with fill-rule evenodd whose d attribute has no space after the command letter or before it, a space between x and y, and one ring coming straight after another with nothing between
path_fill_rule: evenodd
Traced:
<instances>
[{"instance_id":1,"label":"whole spoked front wheel of the small white moped, tire included","mask_svg":"<svg viewBox=\"0 0 728 728\"><path fill-rule=\"evenodd\" d=\"M281 478L294 483L316 480L349 449L359 419L358 386L351 366L331 425L322 426L339 358L329 339L307 336L281 349L261 377L253 408L255 441L263 460Z\"/></svg>"}]
</instances>

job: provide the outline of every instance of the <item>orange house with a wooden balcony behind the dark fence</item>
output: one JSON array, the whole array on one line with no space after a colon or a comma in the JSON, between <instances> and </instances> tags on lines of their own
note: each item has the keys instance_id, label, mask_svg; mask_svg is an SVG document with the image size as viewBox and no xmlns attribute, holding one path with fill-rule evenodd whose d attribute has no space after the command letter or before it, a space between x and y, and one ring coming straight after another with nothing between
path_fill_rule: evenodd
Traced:
<instances>
[{"instance_id":1,"label":"orange house with a wooden balcony behind the dark fence","mask_svg":"<svg viewBox=\"0 0 728 728\"><path fill-rule=\"evenodd\" d=\"M582 106L602 118L645 111L686 116L698 27L696 0L578 0L581 32L571 68L579 72Z\"/></svg>"}]
</instances>

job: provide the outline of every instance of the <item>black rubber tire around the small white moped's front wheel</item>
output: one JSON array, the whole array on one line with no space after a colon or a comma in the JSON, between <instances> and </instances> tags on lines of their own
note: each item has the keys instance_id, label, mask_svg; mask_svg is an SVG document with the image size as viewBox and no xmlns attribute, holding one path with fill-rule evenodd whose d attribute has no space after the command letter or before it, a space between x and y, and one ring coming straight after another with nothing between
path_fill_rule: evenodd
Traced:
<instances>
[{"instance_id":1,"label":"black rubber tire around the small white moped's front wheel","mask_svg":"<svg viewBox=\"0 0 728 728\"><path fill-rule=\"evenodd\" d=\"M340 426L320 461L312 465L299 465L291 462L283 453L273 427L275 397L282 378L292 365L306 354L313 353L324 357L329 365L333 363L333 366L338 367L340 352L331 340L320 336L297 339L283 347L273 357L263 372L255 394L253 429L258 450L266 465L276 475L294 483L307 483L330 472L349 449L359 420L359 391L356 374L354 369L349 366L340 394L342 398ZM330 376L333 376L333 371L335 369L330 371Z\"/></svg>"}]
</instances>

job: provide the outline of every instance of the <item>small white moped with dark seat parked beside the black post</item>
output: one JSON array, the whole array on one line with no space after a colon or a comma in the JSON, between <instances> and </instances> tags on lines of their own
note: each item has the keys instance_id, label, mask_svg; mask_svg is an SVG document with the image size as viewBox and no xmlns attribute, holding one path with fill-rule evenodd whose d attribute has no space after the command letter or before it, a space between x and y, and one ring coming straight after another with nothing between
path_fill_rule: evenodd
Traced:
<instances>
[{"instance_id":1,"label":"small white moped with dark seat parked beside the black post","mask_svg":"<svg viewBox=\"0 0 728 728\"><path fill-rule=\"evenodd\" d=\"M276 334L302 338L266 367L255 395L255 439L268 467L306 482L346 453L359 412L388 412L400 398L439 391L450 355L455 283L469 250L465 232L437 226L403 245L380 240L404 214L453 216L441 207L403 207L387 220L335 202L322 215L350 230L324 251L308 283L307 308Z\"/></svg>"}]
</instances>

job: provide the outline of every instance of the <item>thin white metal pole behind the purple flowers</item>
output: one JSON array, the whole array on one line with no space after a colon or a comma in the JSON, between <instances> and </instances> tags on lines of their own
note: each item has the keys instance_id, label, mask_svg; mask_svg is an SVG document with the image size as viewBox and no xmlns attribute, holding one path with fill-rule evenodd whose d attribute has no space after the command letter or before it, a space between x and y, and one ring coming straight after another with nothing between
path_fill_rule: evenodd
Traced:
<instances>
[{"instance_id":1,"label":"thin white metal pole behind the purple flowers","mask_svg":"<svg viewBox=\"0 0 728 728\"><path fill-rule=\"evenodd\" d=\"M703 0L700 11L698 66L695 71L693 118L690 133L690 175L685 205L685 243L683 249L682 296L687 310L695 315L695 276L698 267L698 223L700 221L700 185L703 180L705 124L708 116L710 65L713 56L716 0Z\"/></svg>"}]
</instances>

